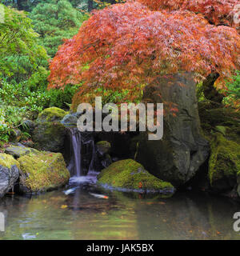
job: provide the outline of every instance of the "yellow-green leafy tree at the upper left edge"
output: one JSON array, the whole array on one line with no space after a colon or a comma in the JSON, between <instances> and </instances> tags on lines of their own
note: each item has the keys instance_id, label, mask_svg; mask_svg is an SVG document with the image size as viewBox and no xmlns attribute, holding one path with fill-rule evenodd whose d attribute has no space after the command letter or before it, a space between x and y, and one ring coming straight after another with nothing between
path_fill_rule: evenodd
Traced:
<instances>
[{"instance_id":1,"label":"yellow-green leafy tree at the upper left edge","mask_svg":"<svg viewBox=\"0 0 240 256\"><path fill-rule=\"evenodd\" d=\"M48 56L37 43L38 34L30 18L22 11L2 8L5 17L0 23L0 75L20 82L30 78L38 67L46 66Z\"/></svg>"}]
</instances>

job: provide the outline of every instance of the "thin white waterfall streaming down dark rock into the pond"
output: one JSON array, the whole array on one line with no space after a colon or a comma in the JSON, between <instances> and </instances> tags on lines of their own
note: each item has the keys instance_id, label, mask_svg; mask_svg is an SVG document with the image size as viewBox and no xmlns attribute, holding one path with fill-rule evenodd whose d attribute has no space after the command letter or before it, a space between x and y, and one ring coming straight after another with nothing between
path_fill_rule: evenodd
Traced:
<instances>
[{"instance_id":1,"label":"thin white waterfall streaming down dark rock into the pond","mask_svg":"<svg viewBox=\"0 0 240 256\"><path fill-rule=\"evenodd\" d=\"M95 147L92 133L67 128L70 136L70 163L67 169L72 176L83 176L94 170Z\"/></svg>"}]
</instances>

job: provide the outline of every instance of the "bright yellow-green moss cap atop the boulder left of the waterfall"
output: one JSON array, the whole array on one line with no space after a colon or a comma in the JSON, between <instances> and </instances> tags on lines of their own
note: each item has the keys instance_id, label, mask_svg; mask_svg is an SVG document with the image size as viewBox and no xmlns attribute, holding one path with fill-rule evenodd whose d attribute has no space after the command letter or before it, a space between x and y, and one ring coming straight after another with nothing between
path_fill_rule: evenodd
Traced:
<instances>
[{"instance_id":1,"label":"bright yellow-green moss cap atop the boulder left of the waterfall","mask_svg":"<svg viewBox=\"0 0 240 256\"><path fill-rule=\"evenodd\" d=\"M52 106L45 110L42 110L40 114L38 114L37 122L55 122L61 121L64 116L68 114L66 111L59 109L58 107Z\"/></svg>"}]
</instances>

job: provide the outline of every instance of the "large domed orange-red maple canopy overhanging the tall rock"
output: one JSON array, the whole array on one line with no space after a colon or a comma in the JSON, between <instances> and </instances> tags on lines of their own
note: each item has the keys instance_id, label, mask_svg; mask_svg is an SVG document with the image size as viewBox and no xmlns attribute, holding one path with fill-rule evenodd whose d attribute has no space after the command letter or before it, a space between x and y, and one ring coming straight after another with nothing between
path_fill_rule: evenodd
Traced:
<instances>
[{"instance_id":1,"label":"large domed orange-red maple canopy overhanging the tall rock","mask_svg":"<svg viewBox=\"0 0 240 256\"><path fill-rule=\"evenodd\" d=\"M66 40L50 63L49 87L84 82L80 95L98 86L135 91L158 74L181 70L202 78L216 71L221 80L239 69L239 56L240 35L233 28L210 25L187 10L152 11L127 2L95 11Z\"/></svg>"}]
</instances>

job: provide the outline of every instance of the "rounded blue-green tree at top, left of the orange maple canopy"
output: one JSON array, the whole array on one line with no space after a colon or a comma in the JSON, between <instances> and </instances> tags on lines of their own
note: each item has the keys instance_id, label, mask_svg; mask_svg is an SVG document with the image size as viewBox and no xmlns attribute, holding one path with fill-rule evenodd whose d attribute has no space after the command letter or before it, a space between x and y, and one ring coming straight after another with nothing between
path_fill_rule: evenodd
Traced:
<instances>
[{"instance_id":1,"label":"rounded blue-green tree at top, left of the orange maple canopy","mask_svg":"<svg viewBox=\"0 0 240 256\"><path fill-rule=\"evenodd\" d=\"M40 34L38 42L47 53L54 57L62 39L78 33L82 22L87 18L67 0L47 0L41 2L30 13L34 29Z\"/></svg>"}]
</instances>

